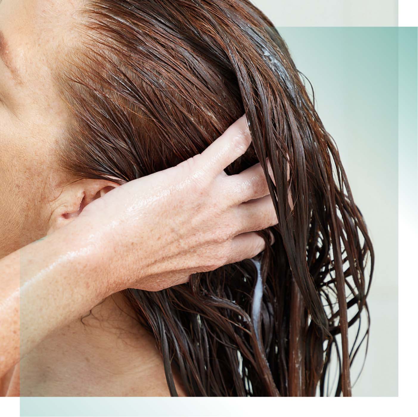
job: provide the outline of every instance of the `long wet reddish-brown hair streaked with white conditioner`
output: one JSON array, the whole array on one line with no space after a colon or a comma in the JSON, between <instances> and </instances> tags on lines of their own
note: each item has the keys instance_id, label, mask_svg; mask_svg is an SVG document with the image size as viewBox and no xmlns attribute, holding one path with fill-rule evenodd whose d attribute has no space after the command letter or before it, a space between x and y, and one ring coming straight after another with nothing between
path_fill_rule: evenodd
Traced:
<instances>
[{"instance_id":1,"label":"long wet reddish-brown hair streaked with white conditioner","mask_svg":"<svg viewBox=\"0 0 418 417\"><path fill-rule=\"evenodd\" d=\"M71 114L59 156L74 178L122 183L169 168L244 113L252 144L226 172L257 162L267 172L271 161L278 224L258 279L246 259L159 292L124 291L155 336L171 395L174 367L189 396L351 395L373 247L306 77L270 20L247 0L86 0L75 29L57 73Z\"/></svg>"}]
</instances>

